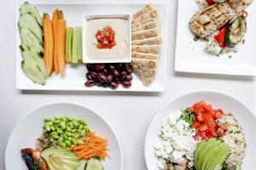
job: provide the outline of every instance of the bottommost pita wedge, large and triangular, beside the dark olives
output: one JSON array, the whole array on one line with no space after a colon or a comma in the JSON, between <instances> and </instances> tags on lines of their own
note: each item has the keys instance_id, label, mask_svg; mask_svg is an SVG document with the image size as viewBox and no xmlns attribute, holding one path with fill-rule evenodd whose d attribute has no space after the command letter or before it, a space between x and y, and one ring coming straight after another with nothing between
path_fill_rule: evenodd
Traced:
<instances>
[{"instance_id":1,"label":"bottommost pita wedge, large and triangular, beside the dark olives","mask_svg":"<svg viewBox=\"0 0 256 170\"><path fill-rule=\"evenodd\" d=\"M153 82L156 75L158 60L156 59L132 59L131 66L134 73L142 80L145 86Z\"/></svg>"}]
</instances>

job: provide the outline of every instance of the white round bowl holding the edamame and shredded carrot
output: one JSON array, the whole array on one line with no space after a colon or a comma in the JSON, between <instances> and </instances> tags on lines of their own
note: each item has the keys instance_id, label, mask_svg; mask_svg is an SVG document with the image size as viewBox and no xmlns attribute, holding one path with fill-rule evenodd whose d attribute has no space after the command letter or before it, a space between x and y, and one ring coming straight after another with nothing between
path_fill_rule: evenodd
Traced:
<instances>
[{"instance_id":1,"label":"white round bowl holding the edamame and shredded carrot","mask_svg":"<svg viewBox=\"0 0 256 170\"><path fill-rule=\"evenodd\" d=\"M25 161L21 159L20 149L26 147L34 148L36 139L42 133L44 118L55 116L74 116L84 119L91 131L108 139L110 159L102 161L105 169L119 170L123 168L123 155L119 139L102 116L81 105L56 103L44 105L36 111L32 111L16 125L6 147L6 170L27 170Z\"/></svg>"}]
</instances>

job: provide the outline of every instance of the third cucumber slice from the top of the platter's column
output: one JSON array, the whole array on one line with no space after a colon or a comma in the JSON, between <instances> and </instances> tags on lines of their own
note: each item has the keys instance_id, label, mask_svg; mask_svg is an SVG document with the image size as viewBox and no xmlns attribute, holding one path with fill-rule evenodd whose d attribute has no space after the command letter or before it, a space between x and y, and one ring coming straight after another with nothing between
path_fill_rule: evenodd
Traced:
<instances>
[{"instance_id":1,"label":"third cucumber slice from the top of the platter's column","mask_svg":"<svg viewBox=\"0 0 256 170\"><path fill-rule=\"evenodd\" d=\"M26 27L20 28L20 40L23 46L28 46L38 54L44 54L44 47L40 44L38 37Z\"/></svg>"}]
</instances>

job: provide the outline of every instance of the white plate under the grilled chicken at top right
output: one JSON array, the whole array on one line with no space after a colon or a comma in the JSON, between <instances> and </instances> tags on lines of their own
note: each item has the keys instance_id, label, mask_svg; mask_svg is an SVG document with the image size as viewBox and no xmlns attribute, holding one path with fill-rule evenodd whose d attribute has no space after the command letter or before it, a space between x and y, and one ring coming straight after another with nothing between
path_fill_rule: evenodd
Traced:
<instances>
[{"instance_id":1,"label":"white plate under the grilled chicken at top right","mask_svg":"<svg viewBox=\"0 0 256 170\"><path fill-rule=\"evenodd\" d=\"M204 51L205 41L194 41L189 29L189 20L198 11L195 0L178 1L177 40L175 54L175 71L225 74L239 76L256 75L256 2L247 7L247 32L245 43L236 53L219 56Z\"/></svg>"}]
</instances>

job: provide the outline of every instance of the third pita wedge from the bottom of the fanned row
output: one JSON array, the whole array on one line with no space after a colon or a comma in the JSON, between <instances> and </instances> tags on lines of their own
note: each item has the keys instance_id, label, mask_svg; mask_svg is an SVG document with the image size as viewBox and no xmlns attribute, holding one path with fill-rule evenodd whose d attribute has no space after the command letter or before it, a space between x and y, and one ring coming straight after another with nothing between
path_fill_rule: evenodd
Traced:
<instances>
[{"instance_id":1,"label":"third pita wedge from the bottom of the fanned row","mask_svg":"<svg viewBox=\"0 0 256 170\"><path fill-rule=\"evenodd\" d=\"M161 45L132 45L131 51L144 54L160 54Z\"/></svg>"}]
</instances>

